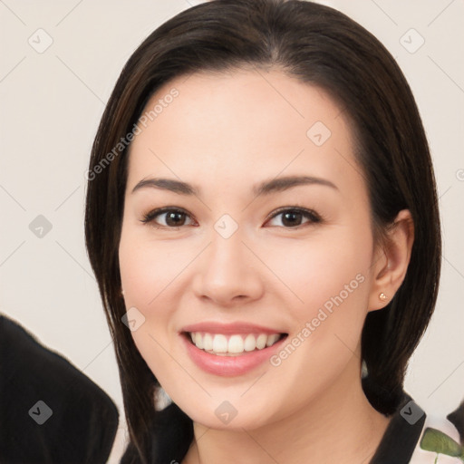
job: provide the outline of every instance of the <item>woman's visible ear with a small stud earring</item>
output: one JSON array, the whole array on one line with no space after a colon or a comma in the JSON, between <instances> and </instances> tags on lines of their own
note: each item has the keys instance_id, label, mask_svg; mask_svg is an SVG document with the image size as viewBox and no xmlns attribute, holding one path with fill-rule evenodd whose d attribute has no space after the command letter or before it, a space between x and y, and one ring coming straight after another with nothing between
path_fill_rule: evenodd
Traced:
<instances>
[{"instance_id":1,"label":"woman's visible ear with a small stud earring","mask_svg":"<svg viewBox=\"0 0 464 464\"><path fill-rule=\"evenodd\" d=\"M385 307L400 288L410 264L413 242L411 212L402 209L388 229L385 243L376 247L373 256L369 311ZM382 299L381 294L386 298Z\"/></svg>"}]
</instances>

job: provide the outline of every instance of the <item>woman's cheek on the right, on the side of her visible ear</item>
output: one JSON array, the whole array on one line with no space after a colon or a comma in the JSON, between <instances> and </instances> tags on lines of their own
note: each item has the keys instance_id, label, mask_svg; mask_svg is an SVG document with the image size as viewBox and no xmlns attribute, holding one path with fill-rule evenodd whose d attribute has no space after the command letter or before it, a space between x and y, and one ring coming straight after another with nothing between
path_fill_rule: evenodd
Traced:
<instances>
[{"instance_id":1,"label":"woman's cheek on the right, on the side of her visible ear","mask_svg":"<svg viewBox=\"0 0 464 464\"><path fill-rule=\"evenodd\" d=\"M281 366L277 371L300 372L314 388L318 382L323 388L343 371L358 349L367 314L371 250L371 235L354 228L286 249L282 279L300 301L287 298L293 302L288 306L295 324L288 337L291 346L286 344L285 352L274 359L274 365ZM324 375L315 380L314 372Z\"/></svg>"}]
</instances>

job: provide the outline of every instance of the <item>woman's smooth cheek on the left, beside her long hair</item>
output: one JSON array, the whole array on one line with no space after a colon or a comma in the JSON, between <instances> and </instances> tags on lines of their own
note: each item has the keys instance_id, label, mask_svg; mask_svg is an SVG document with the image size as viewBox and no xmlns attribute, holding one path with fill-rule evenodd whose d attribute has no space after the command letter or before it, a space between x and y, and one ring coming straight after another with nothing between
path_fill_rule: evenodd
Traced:
<instances>
[{"instance_id":1,"label":"woman's smooth cheek on the left, beside her long hair","mask_svg":"<svg viewBox=\"0 0 464 464\"><path fill-rule=\"evenodd\" d=\"M126 308L137 308L144 318L140 328L131 332L132 338L158 376L162 366L169 365L167 353L177 341L172 333L179 298L185 292L182 277L195 250L185 249L174 240L150 240L149 236L144 228L123 225L119 260Z\"/></svg>"}]
</instances>

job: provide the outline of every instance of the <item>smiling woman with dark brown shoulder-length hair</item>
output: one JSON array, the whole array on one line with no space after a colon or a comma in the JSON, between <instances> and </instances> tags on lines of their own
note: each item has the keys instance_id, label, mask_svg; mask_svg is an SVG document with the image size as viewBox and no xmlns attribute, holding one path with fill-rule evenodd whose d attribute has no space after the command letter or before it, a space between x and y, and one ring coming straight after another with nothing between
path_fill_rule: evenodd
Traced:
<instances>
[{"instance_id":1,"label":"smiling woman with dark brown shoulder-length hair","mask_svg":"<svg viewBox=\"0 0 464 464\"><path fill-rule=\"evenodd\" d=\"M372 34L310 2L189 8L126 64L88 179L122 462L409 462L440 218L416 103Z\"/></svg>"}]
</instances>

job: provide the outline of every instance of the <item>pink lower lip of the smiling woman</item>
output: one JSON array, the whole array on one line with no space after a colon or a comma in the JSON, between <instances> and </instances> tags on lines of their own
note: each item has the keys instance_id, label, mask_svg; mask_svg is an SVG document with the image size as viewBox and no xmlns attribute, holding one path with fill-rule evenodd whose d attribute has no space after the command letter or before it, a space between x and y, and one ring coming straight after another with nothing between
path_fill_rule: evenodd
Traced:
<instances>
[{"instance_id":1,"label":"pink lower lip of the smiling woman","mask_svg":"<svg viewBox=\"0 0 464 464\"><path fill-rule=\"evenodd\" d=\"M190 359L195 362L200 369L221 377L243 375L252 371L258 365L268 361L273 353L279 349L280 345L286 338L283 337L272 346L267 346L262 350L245 352L235 356L221 356L220 354L211 354L200 350L193 343L189 342L189 339L185 334L180 334L180 337L186 345Z\"/></svg>"}]
</instances>

